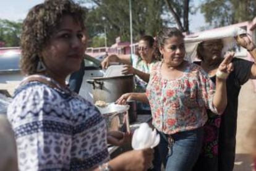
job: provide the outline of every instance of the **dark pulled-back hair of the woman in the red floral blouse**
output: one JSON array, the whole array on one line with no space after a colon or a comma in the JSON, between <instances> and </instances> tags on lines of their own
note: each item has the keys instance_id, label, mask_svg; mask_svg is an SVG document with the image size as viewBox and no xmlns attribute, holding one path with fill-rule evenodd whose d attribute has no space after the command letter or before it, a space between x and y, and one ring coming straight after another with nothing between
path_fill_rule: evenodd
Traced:
<instances>
[{"instance_id":1,"label":"dark pulled-back hair of the woman in the red floral blouse","mask_svg":"<svg viewBox=\"0 0 256 171\"><path fill-rule=\"evenodd\" d=\"M160 30L156 36L156 48L155 48L155 54L158 57L158 59L161 59L161 53L160 48L164 46L164 43L169 38L177 36L184 38L184 35L182 34L182 31L177 29L176 27L170 27L170 28L163 28Z\"/></svg>"}]
</instances>

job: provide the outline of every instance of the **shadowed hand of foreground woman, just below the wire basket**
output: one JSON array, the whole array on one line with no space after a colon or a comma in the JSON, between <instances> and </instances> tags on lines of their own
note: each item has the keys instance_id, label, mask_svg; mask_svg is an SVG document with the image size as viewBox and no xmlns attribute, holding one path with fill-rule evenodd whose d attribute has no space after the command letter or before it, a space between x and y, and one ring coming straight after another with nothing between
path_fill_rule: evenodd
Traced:
<instances>
[{"instance_id":1,"label":"shadowed hand of foreground woman, just below the wire basket","mask_svg":"<svg viewBox=\"0 0 256 171\"><path fill-rule=\"evenodd\" d=\"M122 146L124 144L131 143L132 133L124 133L121 131L109 131L107 140L109 144L114 146Z\"/></svg>"}]
</instances>

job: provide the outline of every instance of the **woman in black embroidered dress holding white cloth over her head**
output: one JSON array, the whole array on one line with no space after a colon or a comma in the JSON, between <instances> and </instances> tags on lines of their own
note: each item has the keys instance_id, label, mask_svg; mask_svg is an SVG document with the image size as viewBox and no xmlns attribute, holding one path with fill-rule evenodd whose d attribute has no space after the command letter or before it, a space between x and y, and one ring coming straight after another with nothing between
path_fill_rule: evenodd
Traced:
<instances>
[{"instance_id":1,"label":"woman in black embroidered dress holding white cloth over her head","mask_svg":"<svg viewBox=\"0 0 256 171\"><path fill-rule=\"evenodd\" d=\"M256 47L247 34L235 37L237 44L247 49L256 61ZM223 61L221 39L202 41L197 47L198 65L216 81L218 66ZM237 105L241 86L249 79L256 78L256 64L244 59L233 59L234 70L227 78L228 105L223 115L208 111L204 127L203 148L194 170L231 171L236 155Z\"/></svg>"}]
</instances>

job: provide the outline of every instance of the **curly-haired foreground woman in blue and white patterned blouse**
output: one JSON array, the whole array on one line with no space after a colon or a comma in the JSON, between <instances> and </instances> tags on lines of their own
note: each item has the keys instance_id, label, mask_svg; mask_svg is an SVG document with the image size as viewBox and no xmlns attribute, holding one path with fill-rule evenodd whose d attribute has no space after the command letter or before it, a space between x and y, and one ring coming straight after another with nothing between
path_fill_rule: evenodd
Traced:
<instances>
[{"instance_id":1,"label":"curly-haired foreground woman in blue and white patterned blouse","mask_svg":"<svg viewBox=\"0 0 256 171\"><path fill-rule=\"evenodd\" d=\"M66 86L85 48L83 9L69 0L33 7L23 22L21 69L7 116L19 170L146 170L151 149L109 161L106 123L98 109Z\"/></svg>"}]
</instances>

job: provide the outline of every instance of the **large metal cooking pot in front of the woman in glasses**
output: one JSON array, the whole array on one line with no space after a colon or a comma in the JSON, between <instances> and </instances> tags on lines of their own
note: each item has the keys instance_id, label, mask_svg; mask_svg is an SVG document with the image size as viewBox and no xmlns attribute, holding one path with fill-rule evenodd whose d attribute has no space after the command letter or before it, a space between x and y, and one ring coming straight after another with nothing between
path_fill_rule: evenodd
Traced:
<instances>
[{"instance_id":1,"label":"large metal cooking pot in front of the woman in glasses","mask_svg":"<svg viewBox=\"0 0 256 171\"><path fill-rule=\"evenodd\" d=\"M134 91L134 75L93 77L87 80L93 86L93 101L114 102L124 93Z\"/></svg>"}]
</instances>

